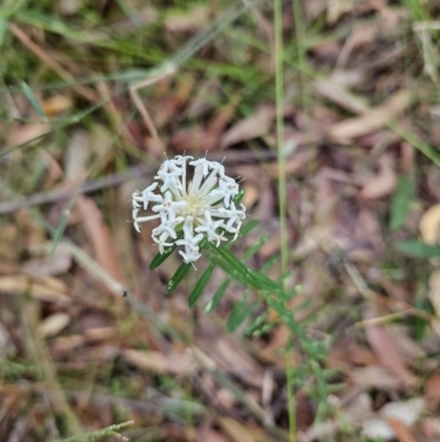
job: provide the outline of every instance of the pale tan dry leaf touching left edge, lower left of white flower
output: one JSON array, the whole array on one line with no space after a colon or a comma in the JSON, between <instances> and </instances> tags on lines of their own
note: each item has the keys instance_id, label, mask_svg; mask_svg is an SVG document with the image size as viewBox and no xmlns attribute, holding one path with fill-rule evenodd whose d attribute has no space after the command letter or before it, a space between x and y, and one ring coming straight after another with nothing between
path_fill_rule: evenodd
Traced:
<instances>
[{"instance_id":1,"label":"pale tan dry leaf touching left edge, lower left of white flower","mask_svg":"<svg viewBox=\"0 0 440 442\"><path fill-rule=\"evenodd\" d=\"M69 303L70 298L67 297L67 287L64 282L55 278L43 278L33 281L22 274L11 277L0 277L0 292L24 294L41 301Z\"/></svg>"}]
</instances>

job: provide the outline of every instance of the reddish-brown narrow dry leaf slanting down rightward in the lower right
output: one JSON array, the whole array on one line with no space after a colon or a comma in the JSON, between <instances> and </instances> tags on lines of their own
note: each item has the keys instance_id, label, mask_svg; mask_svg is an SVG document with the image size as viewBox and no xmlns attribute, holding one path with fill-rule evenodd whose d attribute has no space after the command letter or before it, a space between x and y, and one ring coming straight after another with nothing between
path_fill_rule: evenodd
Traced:
<instances>
[{"instance_id":1,"label":"reddish-brown narrow dry leaf slanting down rightward in the lower right","mask_svg":"<svg viewBox=\"0 0 440 442\"><path fill-rule=\"evenodd\" d=\"M394 337L386 326L366 326L365 335L381 364L393 373L397 379L407 387L417 382L416 376L408 370L402 355L397 352Z\"/></svg>"}]
</instances>

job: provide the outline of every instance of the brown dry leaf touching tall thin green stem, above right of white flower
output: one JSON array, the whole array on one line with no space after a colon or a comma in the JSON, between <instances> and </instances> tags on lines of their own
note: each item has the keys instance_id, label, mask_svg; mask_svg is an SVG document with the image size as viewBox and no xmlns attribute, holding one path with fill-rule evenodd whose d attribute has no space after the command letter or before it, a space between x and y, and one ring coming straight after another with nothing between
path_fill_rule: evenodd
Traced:
<instances>
[{"instance_id":1,"label":"brown dry leaf touching tall thin green stem, above right of white flower","mask_svg":"<svg viewBox=\"0 0 440 442\"><path fill-rule=\"evenodd\" d=\"M252 140L267 134L274 122L275 116L276 109L274 106L260 106L254 115L239 121L223 134L220 141L220 149L227 149L241 141Z\"/></svg>"}]
</instances>

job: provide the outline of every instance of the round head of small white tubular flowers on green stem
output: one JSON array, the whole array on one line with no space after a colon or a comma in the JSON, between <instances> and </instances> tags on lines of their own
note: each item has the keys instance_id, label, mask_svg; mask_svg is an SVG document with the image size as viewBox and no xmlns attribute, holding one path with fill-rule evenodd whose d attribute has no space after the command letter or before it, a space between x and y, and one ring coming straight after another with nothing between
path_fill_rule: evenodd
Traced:
<instances>
[{"instance_id":1,"label":"round head of small white tubular flowers on green stem","mask_svg":"<svg viewBox=\"0 0 440 442\"><path fill-rule=\"evenodd\" d=\"M161 254L174 245L183 246L179 255L188 263L200 258L204 239L217 247L228 240L226 234L237 239L246 209L243 204L235 206L239 184L224 174L222 164L178 155L164 161L154 179L144 191L133 193L133 220L138 231L140 224L160 220L152 237ZM148 207L153 215L140 216Z\"/></svg>"}]
</instances>

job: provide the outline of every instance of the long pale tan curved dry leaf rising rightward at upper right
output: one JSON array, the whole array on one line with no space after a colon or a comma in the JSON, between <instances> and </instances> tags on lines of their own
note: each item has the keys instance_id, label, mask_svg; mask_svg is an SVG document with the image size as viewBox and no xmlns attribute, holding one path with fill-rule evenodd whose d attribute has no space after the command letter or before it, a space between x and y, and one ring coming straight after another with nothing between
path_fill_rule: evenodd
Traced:
<instances>
[{"instance_id":1,"label":"long pale tan curved dry leaf rising rightward at upper right","mask_svg":"<svg viewBox=\"0 0 440 442\"><path fill-rule=\"evenodd\" d=\"M355 137L375 132L395 118L397 118L411 103L408 90L402 89L395 93L382 106L370 109L361 117L351 118L334 125L328 132L334 140L348 140Z\"/></svg>"}]
</instances>

